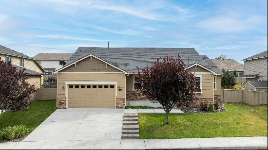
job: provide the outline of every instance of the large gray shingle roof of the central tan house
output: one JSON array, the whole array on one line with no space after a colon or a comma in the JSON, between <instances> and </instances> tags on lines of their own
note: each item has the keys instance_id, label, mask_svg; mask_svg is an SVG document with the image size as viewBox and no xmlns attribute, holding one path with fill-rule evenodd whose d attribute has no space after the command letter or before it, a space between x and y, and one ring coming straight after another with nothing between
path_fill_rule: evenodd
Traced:
<instances>
[{"instance_id":1,"label":"large gray shingle roof of the central tan house","mask_svg":"<svg viewBox=\"0 0 268 150\"><path fill-rule=\"evenodd\" d=\"M153 65L156 58L166 56L176 57L178 54L184 64L191 66L198 63L212 71L223 74L222 71L207 56L200 56L199 53L191 48L98 48L98 47L80 47L68 60L67 65L89 55L96 57L118 67L126 72L136 71L136 67L144 68L148 64ZM189 60L189 63L188 63Z\"/></svg>"}]
</instances>

